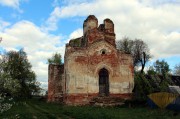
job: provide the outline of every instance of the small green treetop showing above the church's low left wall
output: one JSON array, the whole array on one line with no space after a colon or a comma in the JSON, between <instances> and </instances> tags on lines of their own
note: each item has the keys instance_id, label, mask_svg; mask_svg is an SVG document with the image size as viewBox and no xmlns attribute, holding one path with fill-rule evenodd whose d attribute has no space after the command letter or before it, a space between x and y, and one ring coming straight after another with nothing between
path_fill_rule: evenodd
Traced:
<instances>
[{"instance_id":1,"label":"small green treetop showing above the church's low left wall","mask_svg":"<svg viewBox=\"0 0 180 119\"><path fill-rule=\"evenodd\" d=\"M62 64L61 54L55 53L51 58L48 58L48 64Z\"/></svg>"}]
</instances>

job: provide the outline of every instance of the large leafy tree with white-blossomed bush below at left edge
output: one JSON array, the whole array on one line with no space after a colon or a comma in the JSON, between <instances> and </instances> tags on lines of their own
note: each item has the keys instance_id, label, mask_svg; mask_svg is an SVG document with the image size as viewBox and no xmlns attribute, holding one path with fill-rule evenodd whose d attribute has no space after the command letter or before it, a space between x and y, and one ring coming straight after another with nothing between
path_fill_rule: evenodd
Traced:
<instances>
[{"instance_id":1,"label":"large leafy tree with white-blossomed bush below at left edge","mask_svg":"<svg viewBox=\"0 0 180 119\"><path fill-rule=\"evenodd\" d=\"M0 113L9 110L16 98L29 98L40 91L23 49L0 54Z\"/></svg>"}]
</instances>

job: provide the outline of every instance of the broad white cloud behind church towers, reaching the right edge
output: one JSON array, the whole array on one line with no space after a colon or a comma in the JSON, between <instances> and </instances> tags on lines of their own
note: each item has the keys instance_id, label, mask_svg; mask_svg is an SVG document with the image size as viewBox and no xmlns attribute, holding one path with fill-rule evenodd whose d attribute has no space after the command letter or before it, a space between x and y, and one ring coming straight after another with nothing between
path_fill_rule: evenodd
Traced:
<instances>
[{"instance_id":1,"label":"broad white cloud behind church towers, reaching the right edge","mask_svg":"<svg viewBox=\"0 0 180 119\"><path fill-rule=\"evenodd\" d=\"M165 58L180 55L177 46L180 44L180 15L177 13L180 13L180 4L169 0L96 0L56 7L49 19L58 22L62 18L94 14L102 23L108 17L115 24L116 39L141 38L148 43L154 58Z\"/></svg>"}]
</instances>

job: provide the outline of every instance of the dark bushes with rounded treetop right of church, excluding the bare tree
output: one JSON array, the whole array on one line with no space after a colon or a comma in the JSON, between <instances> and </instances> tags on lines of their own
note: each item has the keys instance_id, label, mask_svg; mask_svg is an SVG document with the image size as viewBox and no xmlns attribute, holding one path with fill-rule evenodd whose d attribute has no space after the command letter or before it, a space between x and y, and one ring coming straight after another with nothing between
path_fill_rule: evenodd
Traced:
<instances>
[{"instance_id":1,"label":"dark bushes with rounded treetop right of church, excluding the bare tree","mask_svg":"<svg viewBox=\"0 0 180 119\"><path fill-rule=\"evenodd\" d=\"M155 92L166 92L169 85L174 85L169 65L164 60L155 61L147 73L135 72L134 81L134 98L142 101L147 100L147 95Z\"/></svg>"}]
</instances>

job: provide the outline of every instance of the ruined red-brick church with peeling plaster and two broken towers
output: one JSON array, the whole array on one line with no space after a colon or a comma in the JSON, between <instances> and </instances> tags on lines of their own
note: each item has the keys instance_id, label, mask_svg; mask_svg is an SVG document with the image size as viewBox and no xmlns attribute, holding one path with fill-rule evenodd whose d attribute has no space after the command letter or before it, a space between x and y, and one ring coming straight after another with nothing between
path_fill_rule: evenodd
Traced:
<instances>
[{"instance_id":1,"label":"ruined red-brick church with peeling plaster and two broken towers","mask_svg":"<svg viewBox=\"0 0 180 119\"><path fill-rule=\"evenodd\" d=\"M116 49L114 24L90 15L83 36L66 44L64 64L50 64L48 101L89 104L95 98L131 98L134 66L130 54Z\"/></svg>"}]
</instances>

